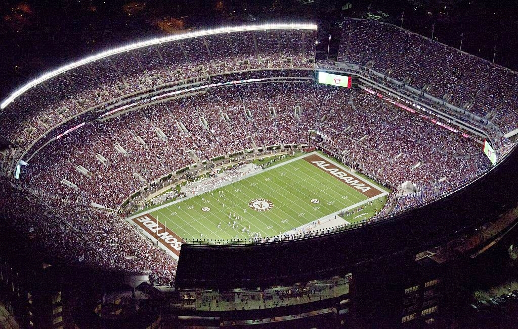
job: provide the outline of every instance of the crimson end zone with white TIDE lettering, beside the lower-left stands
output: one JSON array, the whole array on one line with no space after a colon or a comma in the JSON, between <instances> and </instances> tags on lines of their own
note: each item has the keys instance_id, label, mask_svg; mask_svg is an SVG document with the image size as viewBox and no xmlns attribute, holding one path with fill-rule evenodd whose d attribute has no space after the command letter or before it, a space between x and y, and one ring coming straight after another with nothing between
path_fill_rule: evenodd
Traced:
<instances>
[{"instance_id":1,"label":"crimson end zone with white TIDE lettering, beside the lower-left stands","mask_svg":"<svg viewBox=\"0 0 518 329\"><path fill-rule=\"evenodd\" d=\"M174 258L178 259L182 239L175 232L168 229L150 214L135 217L132 221L142 228L148 236L167 248Z\"/></svg>"}]
</instances>

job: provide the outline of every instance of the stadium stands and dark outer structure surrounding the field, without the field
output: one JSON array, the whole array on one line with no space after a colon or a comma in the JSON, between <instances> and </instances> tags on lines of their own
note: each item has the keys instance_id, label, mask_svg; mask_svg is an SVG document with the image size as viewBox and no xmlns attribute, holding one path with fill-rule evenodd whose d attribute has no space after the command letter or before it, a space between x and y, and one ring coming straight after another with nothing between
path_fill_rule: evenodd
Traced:
<instances>
[{"instance_id":1,"label":"stadium stands and dark outer structure surrounding the field, without the field","mask_svg":"<svg viewBox=\"0 0 518 329\"><path fill-rule=\"evenodd\" d=\"M464 271L476 273L515 239L518 75L393 25L344 24L336 61L315 60L312 24L222 28L85 58L6 99L3 231L23 238L4 240L3 249L22 251L3 255L0 286L16 319L26 327L444 323L466 298ZM321 72L336 74L337 86L316 84ZM385 118L408 126L392 135L388 123L376 126ZM358 128L369 124L378 129ZM414 131L426 143L394 139ZM394 191L406 181L413 190L358 225L182 241L178 261L123 220L204 168L308 146Z\"/></svg>"}]
</instances>

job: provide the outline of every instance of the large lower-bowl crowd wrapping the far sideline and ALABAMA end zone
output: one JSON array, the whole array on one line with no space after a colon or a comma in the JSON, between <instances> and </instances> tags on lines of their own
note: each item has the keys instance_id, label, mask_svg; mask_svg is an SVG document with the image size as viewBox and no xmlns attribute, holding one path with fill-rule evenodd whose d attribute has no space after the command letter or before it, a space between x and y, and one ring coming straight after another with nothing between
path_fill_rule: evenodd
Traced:
<instances>
[{"instance_id":1,"label":"large lower-bowl crowd wrapping the far sideline and ALABAMA end zone","mask_svg":"<svg viewBox=\"0 0 518 329\"><path fill-rule=\"evenodd\" d=\"M239 151L308 144L309 130L325 135L320 146L344 163L395 188L412 182L422 191L419 202L488 168L472 139L364 91L269 83L214 88L93 121L38 152L21 180L118 209L182 168Z\"/></svg>"}]
</instances>

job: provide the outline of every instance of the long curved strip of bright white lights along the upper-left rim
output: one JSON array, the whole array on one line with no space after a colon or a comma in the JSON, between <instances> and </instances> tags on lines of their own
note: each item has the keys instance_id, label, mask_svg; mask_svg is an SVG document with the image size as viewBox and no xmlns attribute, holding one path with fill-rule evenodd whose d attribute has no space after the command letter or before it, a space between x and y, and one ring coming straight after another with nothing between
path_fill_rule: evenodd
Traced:
<instances>
[{"instance_id":1,"label":"long curved strip of bright white lights along the upper-left rim","mask_svg":"<svg viewBox=\"0 0 518 329\"><path fill-rule=\"evenodd\" d=\"M60 67L59 69L56 69L54 71L47 72L47 73L41 75L37 79L34 79L33 81L25 84L23 87L19 88L15 92L13 92L8 98L6 98L2 102L2 104L0 104L0 109L4 109L7 105L9 105L18 96L22 95L25 91L50 79L51 77L53 77L55 75L66 72L67 70L76 68L78 66L88 64L89 62L96 61L97 59L104 58L104 57L111 56L111 55L118 54L118 53L122 53L122 52L126 52L126 51L130 51L133 49L138 49L138 48L142 48L142 47L157 44L157 43L182 40L182 39L190 39L190 38L196 38L196 37L203 37L203 36L221 34L221 33L271 30L271 29L316 30L316 28L317 28L316 24L312 24L312 23L270 23L270 24L259 24L259 25L227 26L227 27L220 27L220 28L214 28L214 29L200 30L200 31L196 31L196 32L189 32L189 33L184 33L184 34L180 34L180 35L167 36L167 37L162 37L162 38L154 38L154 39L149 39L149 40L145 40L145 41L128 44L125 46L121 46L119 48L110 49L105 52L98 53L96 55L85 57L83 59L72 62L63 67Z\"/></svg>"}]
</instances>

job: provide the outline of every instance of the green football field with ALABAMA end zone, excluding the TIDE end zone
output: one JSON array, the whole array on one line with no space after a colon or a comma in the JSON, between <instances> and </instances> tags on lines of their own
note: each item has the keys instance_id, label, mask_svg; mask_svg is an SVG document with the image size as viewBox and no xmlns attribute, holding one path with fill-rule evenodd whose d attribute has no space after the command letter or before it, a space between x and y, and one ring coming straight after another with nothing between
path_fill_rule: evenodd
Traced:
<instances>
[{"instance_id":1,"label":"green football field with ALABAMA end zone, excluding the TIDE end zone","mask_svg":"<svg viewBox=\"0 0 518 329\"><path fill-rule=\"evenodd\" d=\"M311 153L139 215L148 215L183 239L250 239L278 236L328 218L355 223L381 209L386 194L327 156ZM336 216L361 206L356 216L344 217L347 222Z\"/></svg>"}]
</instances>

